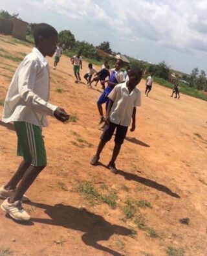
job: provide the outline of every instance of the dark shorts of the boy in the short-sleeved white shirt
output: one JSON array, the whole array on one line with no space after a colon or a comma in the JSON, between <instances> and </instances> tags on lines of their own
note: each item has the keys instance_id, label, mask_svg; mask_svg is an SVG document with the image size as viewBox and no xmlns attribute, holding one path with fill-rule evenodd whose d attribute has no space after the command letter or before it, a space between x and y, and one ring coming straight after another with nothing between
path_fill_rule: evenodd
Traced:
<instances>
[{"instance_id":1,"label":"dark shorts of the boy in the short-sleeved white shirt","mask_svg":"<svg viewBox=\"0 0 207 256\"><path fill-rule=\"evenodd\" d=\"M109 122L109 125L104 126L103 134L101 135L100 139L105 142L110 141L115 129L116 134L114 142L118 145L122 145L124 143L125 136L127 135L128 127L120 124L114 124L113 122Z\"/></svg>"}]
</instances>

